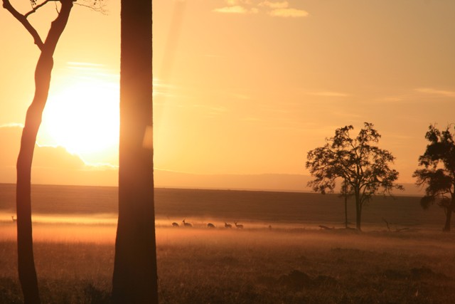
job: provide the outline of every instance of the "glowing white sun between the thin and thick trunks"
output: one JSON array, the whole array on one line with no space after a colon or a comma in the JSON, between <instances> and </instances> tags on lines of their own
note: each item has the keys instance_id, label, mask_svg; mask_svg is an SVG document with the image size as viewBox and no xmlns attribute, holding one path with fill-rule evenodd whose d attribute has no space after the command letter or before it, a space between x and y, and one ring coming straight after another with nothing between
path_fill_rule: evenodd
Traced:
<instances>
[{"instance_id":1,"label":"glowing white sun between the thin and thick trunks","mask_svg":"<svg viewBox=\"0 0 455 304\"><path fill-rule=\"evenodd\" d=\"M119 84L79 79L49 95L41 141L92 164L112 162L119 143ZM40 142L38 142L40 143Z\"/></svg>"}]
</instances>

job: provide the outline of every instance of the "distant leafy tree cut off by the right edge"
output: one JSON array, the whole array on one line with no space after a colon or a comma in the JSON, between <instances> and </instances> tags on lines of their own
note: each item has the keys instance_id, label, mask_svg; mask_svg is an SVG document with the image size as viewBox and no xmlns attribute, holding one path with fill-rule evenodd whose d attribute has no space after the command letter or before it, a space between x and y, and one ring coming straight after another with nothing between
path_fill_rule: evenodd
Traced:
<instances>
[{"instance_id":1,"label":"distant leafy tree cut off by the right edge","mask_svg":"<svg viewBox=\"0 0 455 304\"><path fill-rule=\"evenodd\" d=\"M452 125L453 126L453 125ZM412 174L417 177L417 184L426 185L425 196L420 200L424 209L437 204L444 209L446 224L443 231L450 231L452 213L455 212L455 132L450 132L451 125L445 130L438 130L430 125L425 138L429 141L424 154L419 157L419 166Z\"/></svg>"}]
</instances>

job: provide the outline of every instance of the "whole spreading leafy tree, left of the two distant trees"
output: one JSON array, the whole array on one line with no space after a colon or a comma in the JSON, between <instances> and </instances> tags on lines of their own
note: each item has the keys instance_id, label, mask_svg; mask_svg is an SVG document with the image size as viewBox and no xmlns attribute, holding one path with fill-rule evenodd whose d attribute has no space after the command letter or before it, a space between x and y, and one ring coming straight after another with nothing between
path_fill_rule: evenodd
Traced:
<instances>
[{"instance_id":1,"label":"whole spreading leafy tree, left of the two distant trees","mask_svg":"<svg viewBox=\"0 0 455 304\"><path fill-rule=\"evenodd\" d=\"M375 145L381 136L373 124L365 122L357 137L351 137L350 130L352 125L337 129L326 145L309 151L306 168L315 177L308 183L315 192L333 192L336 179L343 179L347 187L343 192L355 198L355 226L360 230L364 204L376 193L390 194L403 187L395 184L398 172L390 168L395 157Z\"/></svg>"}]
</instances>

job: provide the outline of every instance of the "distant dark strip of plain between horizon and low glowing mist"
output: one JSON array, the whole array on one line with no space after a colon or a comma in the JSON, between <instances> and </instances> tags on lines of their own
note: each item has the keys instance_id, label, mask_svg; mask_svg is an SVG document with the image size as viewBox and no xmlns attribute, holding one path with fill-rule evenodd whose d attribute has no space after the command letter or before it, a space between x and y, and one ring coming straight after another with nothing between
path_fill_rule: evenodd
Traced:
<instances>
[{"instance_id":1,"label":"distant dark strip of plain between horizon and low glowing mist","mask_svg":"<svg viewBox=\"0 0 455 304\"><path fill-rule=\"evenodd\" d=\"M48 186L32 187L33 221L115 223L117 188ZM11 221L15 212L14 184L0 184L0 223ZM203 225L207 221L249 221L265 226L291 224L297 228L343 226L343 198L337 194L299 192L248 192L199 189L155 189L155 213L159 224L183 219ZM71 219L70 219L71 218ZM348 202L348 219L355 222L355 206ZM362 221L369 226L442 229L444 211L437 206L425 211L417 196L377 196L363 208ZM375 229L375 228L374 228Z\"/></svg>"}]
</instances>

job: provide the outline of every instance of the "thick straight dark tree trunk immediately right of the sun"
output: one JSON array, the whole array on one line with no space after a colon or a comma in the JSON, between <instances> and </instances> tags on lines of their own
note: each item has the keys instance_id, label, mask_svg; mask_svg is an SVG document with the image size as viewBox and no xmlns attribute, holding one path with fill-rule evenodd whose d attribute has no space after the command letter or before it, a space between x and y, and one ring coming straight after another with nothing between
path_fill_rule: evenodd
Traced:
<instances>
[{"instance_id":1,"label":"thick straight dark tree trunk immediately right of the sun","mask_svg":"<svg viewBox=\"0 0 455 304\"><path fill-rule=\"evenodd\" d=\"M119 219L112 298L114 303L158 303L151 1L122 0L121 6Z\"/></svg>"}]
</instances>

